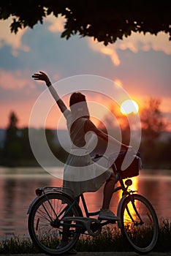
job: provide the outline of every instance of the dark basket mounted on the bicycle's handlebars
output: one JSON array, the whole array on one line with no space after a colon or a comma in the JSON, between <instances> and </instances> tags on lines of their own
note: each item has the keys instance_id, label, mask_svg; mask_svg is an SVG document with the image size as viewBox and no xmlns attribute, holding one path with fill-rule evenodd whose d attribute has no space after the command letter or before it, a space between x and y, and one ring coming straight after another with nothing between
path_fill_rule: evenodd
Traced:
<instances>
[{"instance_id":1,"label":"dark basket mounted on the bicycle's handlebars","mask_svg":"<svg viewBox=\"0 0 171 256\"><path fill-rule=\"evenodd\" d=\"M121 165L123 163L123 159L125 158L126 152L121 152L118 154L117 159L115 160L115 165L117 169L121 173L121 177L124 178L132 178L134 176L139 175L140 170L140 153L137 153L136 156L134 156L134 160L132 163L127 167L125 170L121 170Z\"/></svg>"}]
</instances>

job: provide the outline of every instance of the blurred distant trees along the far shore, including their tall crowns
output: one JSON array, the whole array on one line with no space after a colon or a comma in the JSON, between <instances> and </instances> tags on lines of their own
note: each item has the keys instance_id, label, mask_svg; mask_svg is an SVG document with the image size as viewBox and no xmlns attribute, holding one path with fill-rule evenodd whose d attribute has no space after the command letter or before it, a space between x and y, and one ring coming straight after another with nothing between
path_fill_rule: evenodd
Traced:
<instances>
[{"instance_id":1,"label":"blurred distant trees along the far shore, including their tall crowns","mask_svg":"<svg viewBox=\"0 0 171 256\"><path fill-rule=\"evenodd\" d=\"M140 121L142 126L142 138L140 143L140 154L144 168L171 169L171 132L166 132L167 123L159 110L159 99L149 99L148 104L140 112ZM114 116L116 107L111 111ZM134 117L134 116L133 116ZM122 142L129 145L130 127L126 116L117 116L121 121ZM110 135L115 137L118 134L118 128L115 127L113 120L106 116L105 124L108 122ZM124 125L123 125L124 124ZM106 127L99 123L99 129L107 132ZM4 143L0 147L0 165L4 166L35 166L39 165L31 150L28 127L18 128L18 117L14 112L10 113L9 125L5 130ZM64 163L68 156L68 150L65 150L59 143L56 132L52 129L33 129L35 142L39 148L40 154L44 147L42 141L42 132L46 135L46 140L50 151L59 160ZM165 132L164 132L165 131ZM163 136L163 138L162 138ZM66 135L61 137L65 140ZM136 138L135 138L136 139ZM60 141L61 141L60 140ZM65 141L66 143L66 141ZM92 154L102 154L105 151L106 144L99 140ZM43 159L46 161L46 153ZM47 165L53 165L53 162L47 162Z\"/></svg>"}]
</instances>

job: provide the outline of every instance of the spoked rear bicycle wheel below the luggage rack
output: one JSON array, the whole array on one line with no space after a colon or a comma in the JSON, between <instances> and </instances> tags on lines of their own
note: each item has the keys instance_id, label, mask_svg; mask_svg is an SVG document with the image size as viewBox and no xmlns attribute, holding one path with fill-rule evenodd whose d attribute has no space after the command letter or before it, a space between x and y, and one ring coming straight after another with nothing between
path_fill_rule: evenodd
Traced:
<instances>
[{"instance_id":1,"label":"spoked rear bicycle wheel below the luggage rack","mask_svg":"<svg viewBox=\"0 0 171 256\"><path fill-rule=\"evenodd\" d=\"M28 216L28 231L35 245L48 255L60 255L69 251L80 236L75 222L64 222L62 217L80 216L79 206L59 193L43 195L34 203Z\"/></svg>"}]
</instances>

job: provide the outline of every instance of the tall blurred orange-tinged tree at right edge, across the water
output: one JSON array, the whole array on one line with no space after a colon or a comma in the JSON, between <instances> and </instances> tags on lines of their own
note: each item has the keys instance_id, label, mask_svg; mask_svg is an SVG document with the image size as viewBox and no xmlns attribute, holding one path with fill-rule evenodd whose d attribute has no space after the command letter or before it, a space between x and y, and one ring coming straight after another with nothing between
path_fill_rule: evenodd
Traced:
<instances>
[{"instance_id":1,"label":"tall blurred orange-tinged tree at right edge, across the water","mask_svg":"<svg viewBox=\"0 0 171 256\"><path fill-rule=\"evenodd\" d=\"M170 168L170 140L161 141L161 132L167 127L164 116L160 110L161 100L151 98L140 111L142 124L142 162L150 168Z\"/></svg>"}]
</instances>

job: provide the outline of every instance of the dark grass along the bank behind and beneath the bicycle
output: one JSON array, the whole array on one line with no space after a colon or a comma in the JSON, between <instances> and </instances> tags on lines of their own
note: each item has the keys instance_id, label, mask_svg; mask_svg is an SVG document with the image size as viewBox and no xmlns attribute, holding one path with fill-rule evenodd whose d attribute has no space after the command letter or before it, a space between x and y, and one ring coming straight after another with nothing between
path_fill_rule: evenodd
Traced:
<instances>
[{"instance_id":1,"label":"dark grass along the bank behind and beneath the bicycle","mask_svg":"<svg viewBox=\"0 0 171 256\"><path fill-rule=\"evenodd\" d=\"M159 225L159 241L153 249L156 252L171 251L171 222L167 219L161 219ZM124 246L123 246L124 245ZM118 227L109 225L99 236L82 237L77 242L78 252L128 252L132 248L121 236ZM39 249L32 244L30 238L23 236L0 241L0 254L20 254L20 253L38 253Z\"/></svg>"}]
</instances>

